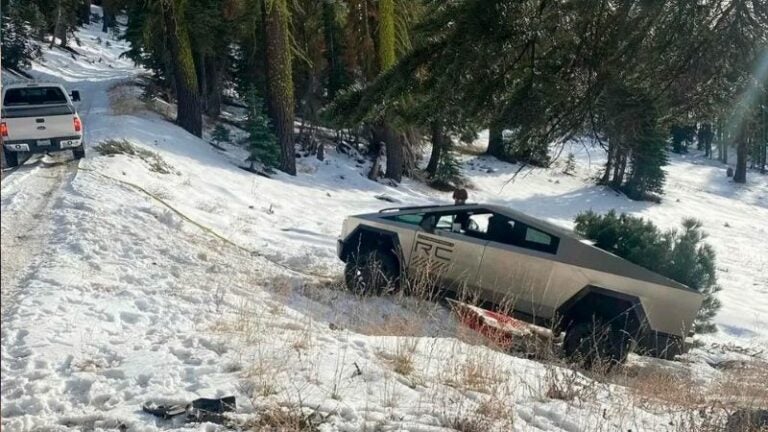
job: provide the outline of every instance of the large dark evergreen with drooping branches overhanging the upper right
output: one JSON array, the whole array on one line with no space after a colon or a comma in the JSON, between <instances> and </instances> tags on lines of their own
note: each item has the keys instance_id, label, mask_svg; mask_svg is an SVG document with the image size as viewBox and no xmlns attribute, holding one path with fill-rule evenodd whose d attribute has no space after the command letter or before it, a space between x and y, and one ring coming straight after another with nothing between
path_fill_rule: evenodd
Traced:
<instances>
[{"instance_id":1,"label":"large dark evergreen with drooping branches overhanging the upper right","mask_svg":"<svg viewBox=\"0 0 768 432\"><path fill-rule=\"evenodd\" d=\"M429 5L414 29L423 37L414 38L413 49L334 111L365 118L418 89L413 110L450 98L463 119L501 123L534 153L590 131L607 139L603 182L633 196L661 190L658 131L710 115L727 101L737 89L733 79L750 73L768 28L765 6L756 0ZM632 103L619 103L621 92ZM606 100L616 109L604 109ZM633 125L635 111L648 114L634 122L640 129L611 127L618 125L614 116ZM644 161L654 166L634 166Z\"/></svg>"}]
</instances>

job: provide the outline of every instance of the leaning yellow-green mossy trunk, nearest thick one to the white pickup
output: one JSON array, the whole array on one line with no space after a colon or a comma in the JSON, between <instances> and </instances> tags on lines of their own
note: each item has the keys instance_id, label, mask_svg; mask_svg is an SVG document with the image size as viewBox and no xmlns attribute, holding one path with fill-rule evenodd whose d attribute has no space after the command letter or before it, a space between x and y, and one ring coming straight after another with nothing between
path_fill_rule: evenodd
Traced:
<instances>
[{"instance_id":1,"label":"leaning yellow-green mossy trunk, nearest thick one to the white pickup","mask_svg":"<svg viewBox=\"0 0 768 432\"><path fill-rule=\"evenodd\" d=\"M163 19L168 33L168 48L173 63L173 81L176 86L176 124L187 132L203 135L203 115L197 85L197 73L187 33L181 0L165 0Z\"/></svg>"}]
</instances>

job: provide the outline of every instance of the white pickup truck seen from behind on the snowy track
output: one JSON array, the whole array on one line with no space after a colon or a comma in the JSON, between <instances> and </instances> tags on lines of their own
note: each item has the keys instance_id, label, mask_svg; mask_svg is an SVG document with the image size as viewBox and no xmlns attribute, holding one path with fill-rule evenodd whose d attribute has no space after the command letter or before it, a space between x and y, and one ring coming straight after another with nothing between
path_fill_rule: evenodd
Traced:
<instances>
[{"instance_id":1,"label":"white pickup truck seen from behind on the snowy track","mask_svg":"<svg viewBox=\"0 0 768 432\"><path fill-rule=\"evenodd\" d=\"M85 156L83 123L74 102L60 84L11 84L3 88L0 119L3 153L8 167L19 164L19 154L72 150L75 159Z\"/></svg>"}]
</instances>

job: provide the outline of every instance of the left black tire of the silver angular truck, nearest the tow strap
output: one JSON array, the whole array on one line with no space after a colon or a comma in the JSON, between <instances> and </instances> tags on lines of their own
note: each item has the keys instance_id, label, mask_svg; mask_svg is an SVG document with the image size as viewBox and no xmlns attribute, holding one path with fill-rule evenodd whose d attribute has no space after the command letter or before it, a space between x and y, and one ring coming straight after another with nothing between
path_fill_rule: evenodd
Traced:
<instances>
[{"instance_id":1,"label":"left black tire of the silver angular truck, nearest the tow strap","mask_svg":"<svg viewBox=\"0 0 768 432\"><path fill-rule=\"evenodd\" d=\"M382 295L400 286L400 266L392 254L379 250L349 257L344 269L347 289L359 294Z\"/></svg>"}]
</instances>

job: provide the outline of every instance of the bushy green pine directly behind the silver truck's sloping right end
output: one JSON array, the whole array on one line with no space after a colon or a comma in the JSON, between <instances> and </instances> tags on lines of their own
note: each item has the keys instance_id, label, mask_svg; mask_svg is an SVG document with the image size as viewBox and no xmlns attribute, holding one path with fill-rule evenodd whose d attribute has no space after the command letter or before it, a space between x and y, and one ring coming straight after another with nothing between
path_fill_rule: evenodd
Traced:
<instances>
[{"instance_id":1,"label":"bushy green pine directly behind the silver truck's sloping right end","mask_svg":"<svg viewBox=\"0 0 768 432\"><path fill-rule=\"evenodd\" d=\"M681 230L662 232L650 221L613 210L604 215L581 213L575 221L576 232L595 241L595 246L702 293L696 332L717 330L712 323L720 309L715 252L703 242L701 222L685 219Z\"/></svg>"}]
</instances>

